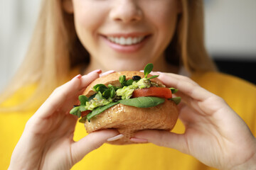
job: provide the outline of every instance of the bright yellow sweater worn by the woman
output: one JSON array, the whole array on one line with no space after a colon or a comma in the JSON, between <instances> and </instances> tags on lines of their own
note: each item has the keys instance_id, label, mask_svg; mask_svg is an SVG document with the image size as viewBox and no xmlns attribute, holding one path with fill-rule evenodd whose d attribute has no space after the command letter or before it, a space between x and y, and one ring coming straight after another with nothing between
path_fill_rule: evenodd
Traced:
<instances>
[{"instance_id":1,"label":"bright yellow sweater worn by the woman","mask_svg":"<svg viewBox=\"0 0 256 170\"><path fill-rule=\"evenodd\" d=\"M226 74L208 72L193 74L192 79L208 91L221 96L245 120L252 133L256 135L256 86ZM26 98L26 89L15 95L7 103ZM0 113L0 169L7 169L18 139L21 137L26 121L35 111L26 113ZM178 121L174 132L183 132ZM86 135L84 125L78 123L75 140ZM28 144L29 145L29 144ZM213 169L198 162L191 156L174 149L152 144L115 146L105 144L87 154L73 169Z\"/></svg>"}]
</instances>

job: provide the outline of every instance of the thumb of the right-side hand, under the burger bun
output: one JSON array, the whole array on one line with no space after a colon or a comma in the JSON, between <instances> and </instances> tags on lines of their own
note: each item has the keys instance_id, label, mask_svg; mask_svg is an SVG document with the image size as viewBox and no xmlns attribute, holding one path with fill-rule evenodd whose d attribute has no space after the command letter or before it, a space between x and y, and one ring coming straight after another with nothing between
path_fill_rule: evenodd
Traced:
<instances>
[{"instance_id":1,"label":"thumb of the right-side hand, under the burger bun","mask_svg":"<svg viewBox=\"0 0 256 170\"><path fill-rule=\"evenodd\" d=\"M161 147L177 149L188 154L186 137L167 130L141 130L131 138L133 142L147 141Z\"/></svg>"}]
</instances>

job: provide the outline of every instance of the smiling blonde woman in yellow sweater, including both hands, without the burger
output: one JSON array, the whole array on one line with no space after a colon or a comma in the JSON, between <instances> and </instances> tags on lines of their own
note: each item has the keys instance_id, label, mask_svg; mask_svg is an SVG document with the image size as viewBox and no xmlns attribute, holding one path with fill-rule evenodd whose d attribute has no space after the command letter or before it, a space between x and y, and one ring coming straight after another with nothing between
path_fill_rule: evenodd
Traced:
<instances>
[{"instance_id":1,"label":"smiling blonde woman in yellow sweater, including both hands, without the burger","mask_svg":"<svg viewBox=\"0 0 256 170\"><path fill-rule=\"evenodd\" d=\"M3 104L12 106L3 111L25 112L1 114L4 139L14 142L10 148L1 142L1 151L8 154L3 166L33 115L9 169L255 169L255 137L247 125L255 132L256 89L214 72L203 46L202 8L199 0L43 1L22 72L14 78L19 80L6 96L19 91ZM139 70L149 62L164 84L179 89L181 121L173 132L145 130L131 138L155 145L103 145L87 154L119 133L105 130L85 137L82 125L67 114L75 98L102 71ZM181 70L194 81L178 75ZM78 76L55 89L74 74ZM32 92L24 94L27 89ZM28 100L14 107L17 96ZM245 96L248 102L242 103Z\"/></svg>"}]
</instances>

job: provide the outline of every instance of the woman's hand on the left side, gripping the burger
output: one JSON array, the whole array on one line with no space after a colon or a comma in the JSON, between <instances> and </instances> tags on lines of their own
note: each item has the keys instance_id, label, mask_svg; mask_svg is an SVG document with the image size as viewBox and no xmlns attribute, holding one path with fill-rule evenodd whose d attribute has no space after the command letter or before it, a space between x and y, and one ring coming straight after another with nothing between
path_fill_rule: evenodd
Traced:
<instances>
[{"instance_id":1,"label":"woman's hand on the left side, gripping the burger","mask_svg":"<svg viewBox=\"0 0 256 170\"><path fill-rule=\"evenodd\" d=\"M78 118L69 111L100 73L101 70L95 70L83 77L78 75L53 91L26 123L9 169L70 169L87 153L119 134L116 130L102 130L73 141Z\"/></svg>"}]
</instances>

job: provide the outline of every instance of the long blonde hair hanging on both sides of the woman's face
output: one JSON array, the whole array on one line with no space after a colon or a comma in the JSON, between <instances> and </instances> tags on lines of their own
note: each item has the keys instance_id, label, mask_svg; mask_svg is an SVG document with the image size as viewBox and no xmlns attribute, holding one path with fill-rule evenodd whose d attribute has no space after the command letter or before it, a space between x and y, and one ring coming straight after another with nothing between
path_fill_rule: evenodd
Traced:
<instances>
[{"instance_id":1,"label":"long blonde hair hanging on both sides of the woman's face","mask_svg":"<svg viewBox=\"0 0 256 170\"><path fill-rule=\"evenodd\" d=\"M38 107L55 87L63 84L73 67L90 60L75 33L73 15L63 10L63 1L42 3L26 57L11 86L1 95L0 103L23 86L36 84L37 88L26 102L12 107L11 111L28 108L28 103ZM203 1L182 0L182 10L176 35L166 49L167 61L181 62L191 73L215 71L215 64L204 47Z\"/></svg>"}]
</instances>

